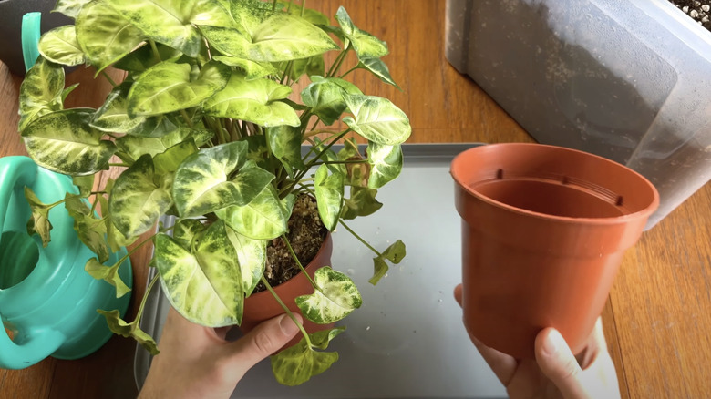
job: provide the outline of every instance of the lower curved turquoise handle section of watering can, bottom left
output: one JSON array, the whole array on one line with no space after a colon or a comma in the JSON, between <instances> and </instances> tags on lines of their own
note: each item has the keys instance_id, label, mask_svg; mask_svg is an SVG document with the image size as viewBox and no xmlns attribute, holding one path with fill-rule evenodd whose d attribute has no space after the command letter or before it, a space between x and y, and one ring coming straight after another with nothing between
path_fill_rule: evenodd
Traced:
<instances>
[{"instance_id":1,"label":"lower curved turquoise handle section of watering can, bottom left","mask_svg":"<svg viewBox=\"0 0 711 399\"><path fill-rule=\"evenodd\" d=\"M10 339L5 328L0 326L0 367L18 370L39 363L55 353L64 341L64 334L46 329L26 333L23 343L17 344Z\"/></svg>"}]
</instances>

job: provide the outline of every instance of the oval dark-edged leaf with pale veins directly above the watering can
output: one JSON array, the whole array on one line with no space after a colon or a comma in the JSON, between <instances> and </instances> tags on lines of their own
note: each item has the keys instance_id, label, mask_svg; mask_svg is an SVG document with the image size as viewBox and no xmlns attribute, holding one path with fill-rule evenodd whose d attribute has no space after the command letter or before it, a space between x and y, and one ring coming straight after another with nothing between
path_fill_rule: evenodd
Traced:
<instances>
[{"instance_id":1,"label":"oval dark-edged leaf with pale veins directly above the watering can","mask_svg":"<svg viewBox=\"0 0 711 399\"><path fill-rule=\"evenodd\" d=\"M73 108L36 119L22 132L30 157L43 168L70 176L108 169L116 146L89 126L92 112Z\"/></svg>"}]
</instances>

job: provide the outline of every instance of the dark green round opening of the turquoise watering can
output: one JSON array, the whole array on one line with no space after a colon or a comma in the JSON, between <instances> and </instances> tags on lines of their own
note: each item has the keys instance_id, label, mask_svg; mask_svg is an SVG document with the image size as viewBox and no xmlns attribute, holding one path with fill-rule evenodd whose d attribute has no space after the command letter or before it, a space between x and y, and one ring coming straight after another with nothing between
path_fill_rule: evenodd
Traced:
<instances>
[{"instance_id":1,"label":"dark green round opening of the turquoise watering can","mask_svg":"<svg viewBox=\"0 0 711 399\"><path fill-rule=\"evenodd\" d=\"M38 260L35 240L24 232L5 231L0 237L0 290L25 280Z\"/></svg>"}]
</instances>

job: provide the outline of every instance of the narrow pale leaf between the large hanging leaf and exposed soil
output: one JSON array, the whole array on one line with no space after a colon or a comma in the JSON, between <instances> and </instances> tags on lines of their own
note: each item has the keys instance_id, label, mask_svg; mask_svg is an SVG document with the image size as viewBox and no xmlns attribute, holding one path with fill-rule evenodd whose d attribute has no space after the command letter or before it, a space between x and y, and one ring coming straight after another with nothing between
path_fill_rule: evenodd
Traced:
<instances>
[{"instance_id":1,"label":"narrow pale leaf between the large hanging leaf and exposed soil","mask_svg":"<svg viewBox=\"0 0 711 399\"><path fill-rule=\"evenodd\" d=\"M252 240L229 227L226 230L227 238L230 239L234 251L237 253L237 263L239 263L242 272L244 295L250 296L264 274L267 241Z\"/></svg>"}]
</instances>

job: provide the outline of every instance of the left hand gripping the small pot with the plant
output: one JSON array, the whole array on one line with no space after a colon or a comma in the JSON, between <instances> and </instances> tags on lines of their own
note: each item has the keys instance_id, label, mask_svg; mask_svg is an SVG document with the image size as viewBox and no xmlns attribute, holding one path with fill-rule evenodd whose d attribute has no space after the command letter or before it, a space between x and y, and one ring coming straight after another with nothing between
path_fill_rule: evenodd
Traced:
<instances>
[{"instance_id":1,"label":"left hand gripping the small pot with the plant","mask_svg":"<svg viewBox=\"0 0 711 399\"><path fill-rule=\"evenodd\" d=\"M299 331L286 314L232 343L225 340L228 330L189 322L171 307L139 399L229 398L244 373Z\"/></svg>"}]
</instances>

